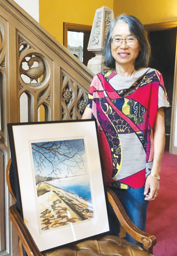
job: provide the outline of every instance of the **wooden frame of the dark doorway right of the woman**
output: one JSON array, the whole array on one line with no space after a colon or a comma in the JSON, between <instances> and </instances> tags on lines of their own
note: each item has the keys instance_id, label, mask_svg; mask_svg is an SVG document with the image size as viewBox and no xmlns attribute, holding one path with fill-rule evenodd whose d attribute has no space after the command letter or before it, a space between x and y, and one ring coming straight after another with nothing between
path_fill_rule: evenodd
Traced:
<instances>
[{"instance_id":1,"label":"wooden frame of the dark doorway right of the woman","mask_svg":"<svg viewBox=\"0 0 177 256\"><path fill-rule=\"evenodd\" d=\"M177 28L177 21L162 22L154 24L146 24L144 28L149 37L149 32L158 30L167 30ZM177 155L177 146L174 146L175 138L175 123L177 123L177 40L176 40L176 53L175 53L175 65L174 65L174 81L173 81L173 99L172 99L172 115L171 115L171 130L170 130L170 144L169 153ZM177 129L177 128L176 128ZM176 131L177 132L177 131Z\"/></svg>"}]
</instances>

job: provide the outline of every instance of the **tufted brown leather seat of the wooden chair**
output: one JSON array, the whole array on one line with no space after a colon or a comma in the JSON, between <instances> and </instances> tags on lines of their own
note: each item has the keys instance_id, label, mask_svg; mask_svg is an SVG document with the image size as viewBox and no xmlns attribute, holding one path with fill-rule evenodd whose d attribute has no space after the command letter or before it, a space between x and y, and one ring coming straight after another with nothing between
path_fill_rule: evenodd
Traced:
<instances>
[{"instance_id":1,"label":"tufted brown leather seat of the wooden chair","mask_svg":"<svg viewBox=\"0 0 177 256\"><path fill-rule=\"evenodd\" d=\"M137 245L117 236L86 240L67 248L44 253L44 256L152 256Z\"/></svg>"}]
</instances>

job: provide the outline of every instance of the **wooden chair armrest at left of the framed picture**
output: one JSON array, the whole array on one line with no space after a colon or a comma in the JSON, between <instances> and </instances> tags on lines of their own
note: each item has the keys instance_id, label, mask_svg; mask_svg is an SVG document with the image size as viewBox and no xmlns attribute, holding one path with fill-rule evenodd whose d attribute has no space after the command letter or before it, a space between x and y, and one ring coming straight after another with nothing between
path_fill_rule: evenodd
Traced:
<instances>
[{"instance_id":1,"label":"wooden chair armrest at left of the framed picture","mask_svg":"<svg viewBox=\"0 0 177 256\"><path fill-rule=\"evenodd\" d=\"M19 239L23 244L23 247L25 248L25 251L27 252L27 255L43 256L42 253L38 250L38 247L35 244L35 241L33 240L30 232L28 231L27 226L24 224L22 217L19 215L16 204L13 204L9 208L9 217L15 227Z\"/></svg>"}]
</instances>

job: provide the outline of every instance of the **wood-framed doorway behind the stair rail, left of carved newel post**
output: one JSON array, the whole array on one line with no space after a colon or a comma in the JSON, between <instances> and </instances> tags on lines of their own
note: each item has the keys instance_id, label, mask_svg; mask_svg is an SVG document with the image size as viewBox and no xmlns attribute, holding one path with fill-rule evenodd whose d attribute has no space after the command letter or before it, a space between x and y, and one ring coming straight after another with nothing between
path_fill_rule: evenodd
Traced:
<instances>
[{"instance_id":1,"label":"wood-framed doorway behind the stair rail, left of carved newel post","mask_svg":"<svg viewBox=\"0 0 177 256\"><path fill-rule=\"evenodd\" d=\"M78 49L78 52L80 52L80 54L76 54L76 53L72 53L78 58L80 59L83 64L85 64L85 66L87 66L88 61L90 59L92 59L92 57L95 57L95 54L88 51L87 47L89 44L89 37L90 37L90 33L92 30L92 26L89 25L82 25L82 24L73 24L73 23L63 23L63 45L66 48L70 48L70 49L74 49L77 51L76 48L73 48L72 45L68 46L68 32L82 32L83 33L83 48L81 49L80 47L80 51ZM82 54L82 56L81 56Z\"/></svg>"}]
</instances>

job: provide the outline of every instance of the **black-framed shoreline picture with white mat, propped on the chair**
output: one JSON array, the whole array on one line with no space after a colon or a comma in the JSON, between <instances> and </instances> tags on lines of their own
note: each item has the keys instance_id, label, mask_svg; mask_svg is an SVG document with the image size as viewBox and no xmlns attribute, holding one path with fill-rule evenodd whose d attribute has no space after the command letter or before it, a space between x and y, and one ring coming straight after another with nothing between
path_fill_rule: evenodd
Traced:
<instances>
[{"instance_id":1,"label":"black-framed shoreline picture with white mat, propped on the chair","mask_svg":"<svg viewBox=\"0 0 177 256\"><path fill-rule=\"evenodd\" d=\"M19 208L40 251L109 231L95 120L8 132Z\"/></svg>"}]
</instances>

